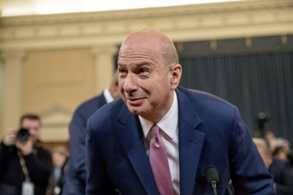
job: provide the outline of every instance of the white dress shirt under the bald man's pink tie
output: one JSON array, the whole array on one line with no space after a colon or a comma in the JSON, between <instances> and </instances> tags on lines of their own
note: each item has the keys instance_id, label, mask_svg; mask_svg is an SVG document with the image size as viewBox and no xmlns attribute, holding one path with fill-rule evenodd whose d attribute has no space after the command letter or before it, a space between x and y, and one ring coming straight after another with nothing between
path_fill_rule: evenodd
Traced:
<instances>
[{"instance_id":1,"label":"white dress shirt under the bald man's pink tie","mask_svg":"<svg viewBox=\"0 0 293 195\"><path fill-rule=\"evenodd\" d=\"M143 129L143 135L145 138L145 147L147 151L147 156L149 157L150 153L150 140L152 135L150 133L150 128L154 125L153 122L150 122L141 116L139 117L140 124ZM175 195L180 194L179 186L179 145L178 145L178 101L177 95L174 91L174 99L171 108L167 114L156 123L160 127L160 135L164 141L167 154L168 154L168 163L171 173L172 185L174 188Z\"/></svg>"}]
</instances>

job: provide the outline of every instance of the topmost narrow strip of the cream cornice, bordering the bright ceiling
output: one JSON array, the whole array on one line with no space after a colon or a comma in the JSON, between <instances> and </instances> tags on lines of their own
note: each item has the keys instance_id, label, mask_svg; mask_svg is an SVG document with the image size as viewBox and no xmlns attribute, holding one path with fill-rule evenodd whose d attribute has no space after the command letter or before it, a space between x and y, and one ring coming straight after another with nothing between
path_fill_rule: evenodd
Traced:
<instances>
[{"instance_id":1,"label":"topmost narrow strip of the cream cornice, bordering the bright ceiling","mask_svg":"<svg viewBox=\"0 0 293 195\"><path fill-rule=\"evenodd\" d=\"M259 9L277 9L293 7L291 0L245 0L206 4L179 5L156 8L112 10L99 12L78 12L31 16L7 16L0 19L0 26L27 26L63 23L83 23L101 21L121 21L125 19L150 19L177 15L201 15L208 13L241 12Z\"/></svg>"}]
</instances>

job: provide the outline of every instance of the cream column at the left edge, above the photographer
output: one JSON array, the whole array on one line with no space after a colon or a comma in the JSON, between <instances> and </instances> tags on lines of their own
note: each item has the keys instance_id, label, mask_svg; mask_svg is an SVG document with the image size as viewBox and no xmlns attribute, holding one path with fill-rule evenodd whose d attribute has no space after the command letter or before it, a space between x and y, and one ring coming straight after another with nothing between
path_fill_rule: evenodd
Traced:
<instances>
[{"instance_id":1,"label":"cream column at the left edge, above the photographer","mask_svg":"<svg viewBox=\"0 0 293 195\"><path fill-rule=\"evenodd\" d=\"M8 128L18 128L20 117L20 77L24 52L4 52L2 57L1 136Z\"/></svg>"}]
</instances>

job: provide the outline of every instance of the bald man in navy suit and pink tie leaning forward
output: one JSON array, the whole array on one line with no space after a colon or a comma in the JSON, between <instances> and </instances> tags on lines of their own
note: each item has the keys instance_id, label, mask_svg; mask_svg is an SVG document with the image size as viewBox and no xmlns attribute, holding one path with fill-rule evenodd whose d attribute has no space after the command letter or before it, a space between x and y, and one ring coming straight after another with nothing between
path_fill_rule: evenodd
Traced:
<instances>
[{"instance_id":1,"label":"bald man in navy suit and pink tie leaning forward","mask_svg":"<svg viewBox=\"0 0 293 195\"><path fill-rule=\"evenodd\" d=\"M130 34L121 45L118 70L122 99L99 109L87 124L87 195L213 194L204 174L208 165L219 172L218 194L230 179L236 194L274 194L238 109L178 87L182 67L167 35L155 29ZM165 148L162 158L154 158L156 142ZM162 181L156 166L164 159Z\"/></svg>"}]
</instances>

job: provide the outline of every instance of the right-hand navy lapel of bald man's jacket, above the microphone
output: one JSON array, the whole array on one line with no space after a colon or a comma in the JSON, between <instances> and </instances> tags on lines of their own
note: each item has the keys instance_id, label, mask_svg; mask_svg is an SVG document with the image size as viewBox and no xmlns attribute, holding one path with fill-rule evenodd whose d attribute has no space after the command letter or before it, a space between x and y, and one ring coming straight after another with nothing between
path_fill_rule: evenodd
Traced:
<instances>
[{"instance_id":1,"label":"right-hand navy lapel of bald man's jacket, above the microphone","mask_svg":"<svg viewBox=\"0 0 293 195\"><path fill-rule=\"evenodd\" d=\"M201 119L189 99L178 89L176 94L179 109L180 194L187 195L193 192L195 186L195 176L204 141L204 133L196 129L201 123Z\"/></svg>"}]
</instances>

